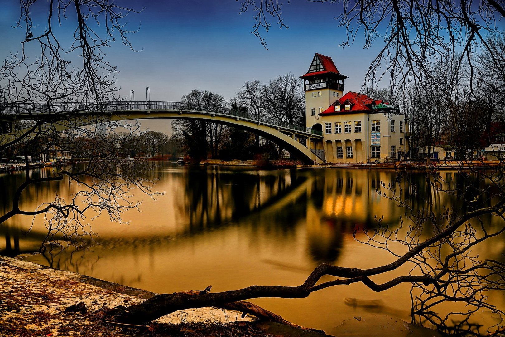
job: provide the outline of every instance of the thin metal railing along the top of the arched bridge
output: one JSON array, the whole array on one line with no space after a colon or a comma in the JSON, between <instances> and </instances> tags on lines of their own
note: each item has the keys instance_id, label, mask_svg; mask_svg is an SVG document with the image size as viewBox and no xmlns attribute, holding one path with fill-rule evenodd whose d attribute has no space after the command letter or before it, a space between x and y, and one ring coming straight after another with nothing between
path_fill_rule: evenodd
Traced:
<instances>
[{"instance_id":1,"label":"thin metal railing along the top of the arched bridge","mask_svg":"<svg viewBox=\"0 0 505 337\"><path fill-rule=\"evenodd\" d=\"M199 105L184 102L48 102L48 103L16 103L0 106L2 115L40 115L59 113L107 113L129 110L192 110L205 111L216 114L232 115L239 118L247 118L257 122L267 123L296 131L311 133L322 136L323 132L309 127L295 125L284 121L275 121L266 116L254 116L250 113L230 109L227 107Z\"/></svg>"}]
</instances>

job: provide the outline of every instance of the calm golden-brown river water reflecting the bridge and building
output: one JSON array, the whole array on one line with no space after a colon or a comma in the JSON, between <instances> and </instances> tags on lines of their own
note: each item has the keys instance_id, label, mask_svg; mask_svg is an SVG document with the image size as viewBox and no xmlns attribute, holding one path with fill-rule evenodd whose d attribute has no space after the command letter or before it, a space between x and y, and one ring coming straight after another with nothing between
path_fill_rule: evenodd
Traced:
<instances>
[{"instance_id":1,"label":"calm golden-brown river water reflecting the bridge and building","mask_svg":"<svg viewBox=\"0 0 505 337\"><path fill-rule=\"evenodd\" d=\"M34 170L34 176L53 174L54 169ZM128 211L128 224L111 222L106 214L84 221L97 234L96 243L83 249L54 249L27 260L69 270L156 293L204 289L213 292L252 284L299 285L321 262L343 267L375 267L392 261L384 250L359 243L355 226L374 228L375 216L398 226L405 210L375 191L380 181L391 181L393 171L378 170L258 170L255 168L179 167L152 163L149 174L157 180L154 189L163 195L150 198L139 190L132 200L142 201L140 212ZM442 175L455 173L442 172ZM423 181L424 174L414 177ZM21 173L3 174L5 209ZM55 194L68 197L78 190L67 181L30 186L22 208L35 209L53 201ZM440 207L448 197L430 197ZM413 203L422 205L421 197ZM16 216L0 225L0 253L16 255L37 251L46 229L42 216ZM494 217L489 223L501 221ZM429 235L429 230L422 235ZM358 233L358 237L360 237ZM361 236L362 237L362 236ZM477 253L503 260L503 236L480 247ZM375 277L387 281L400 270ZM330 280L325 277L324 280ZM306 299L255 299L296 324L327 332L342 320L368 313L384 313L410 320L410 285L375 293L361 284L336 286ZM503 292L502 292L503 293ZM503 294L492 295L504 308ZM347 306L345 298L380 300L376 308Z\"/></svg>"}]
</instances>

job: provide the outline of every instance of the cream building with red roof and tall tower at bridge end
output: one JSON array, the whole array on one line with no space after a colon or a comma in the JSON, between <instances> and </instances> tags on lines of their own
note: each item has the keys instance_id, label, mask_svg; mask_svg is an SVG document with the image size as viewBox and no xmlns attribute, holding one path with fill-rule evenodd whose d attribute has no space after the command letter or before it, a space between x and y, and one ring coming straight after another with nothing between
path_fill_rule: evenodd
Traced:
<instances>
[{"instance_id":1,"label":"cream building with red roof and tall tower at bridge end","mask_svg":"<svg viewBox=\"0 0 505 337\"><path fill-rule=\"evenodd\" d=\"M343 94L344 79L332 59L315 54L304 80L306 126L323 132L320 144L330 163L385 162L409 151L405 114L366 94ZM317 149L318 144L311 146Z\"/></svg>"}]
</instances>

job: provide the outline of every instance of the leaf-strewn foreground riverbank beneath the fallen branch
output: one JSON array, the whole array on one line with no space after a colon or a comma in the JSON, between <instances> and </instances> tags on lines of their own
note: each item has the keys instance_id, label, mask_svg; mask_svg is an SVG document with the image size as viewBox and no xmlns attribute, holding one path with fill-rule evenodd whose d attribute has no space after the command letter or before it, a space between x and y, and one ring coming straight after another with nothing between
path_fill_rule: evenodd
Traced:
<instances>
[{"instance_id":1,"label":"leaf-strewn foreground riverbank beneath the fallen branch","mask_svg":"<svg viewBox=\"0 0 505 337\"><path fill-rule=\"evenodd\" d=\"M0 336L328 336L218 308L174 312L145 326L100 320L104 307L129 306L155 293L0 256ZM434 336L436 331L384 315L355 317L335 336Z\"/></svg>"}]
</instances>

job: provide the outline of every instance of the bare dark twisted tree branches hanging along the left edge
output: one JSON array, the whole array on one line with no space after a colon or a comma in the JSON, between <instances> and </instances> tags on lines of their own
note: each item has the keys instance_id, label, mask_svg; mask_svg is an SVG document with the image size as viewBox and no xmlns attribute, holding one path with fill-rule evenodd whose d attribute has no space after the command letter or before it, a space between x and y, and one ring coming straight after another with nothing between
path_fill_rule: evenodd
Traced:
<instances>
[{"instance_id":1,"label":"bare dark twisted tree branches hanging along the left edge","mask_svg":"<svg viewBox=\"0 0 505 337\"><path fill-rule=\"evenodd\" d=\"M127 200L132 187L152 193L144 179L132 174L139 166L125 167L116 156L105 155L116 153L118 142L128 141L137 125L111 122L112 133L119 126L128 131L112 142L93 127L83 127L109 122L105 112L115 109L117 70L105 58L105 49L114 40L131 47L127 35L134 30L124 19L134 12L106 0L20 2L17 28L25 30L26 38L0 69L0 119L6 125L0 152L23 154L25 180L15 191L12 207L0 215L0 223L14 215L44 214L47 240L63 235L75 241L91 232L83 222L85 213L105 211L111 221L122 221L125 209L137 207ZM45 18L40 13L46 13ZM68 31L75 32L70 44ZM30 154L80 141L87 147L80 152L80 166L62 166L47 177L31 175ZM80 191L56 196L37 209L23 208L21 197L29 185L63 179L81 186Z\"/></svg>"}]
</instances>

